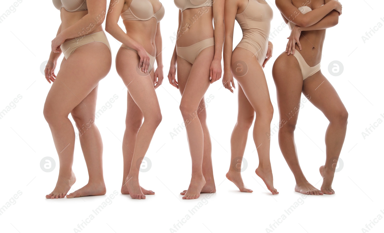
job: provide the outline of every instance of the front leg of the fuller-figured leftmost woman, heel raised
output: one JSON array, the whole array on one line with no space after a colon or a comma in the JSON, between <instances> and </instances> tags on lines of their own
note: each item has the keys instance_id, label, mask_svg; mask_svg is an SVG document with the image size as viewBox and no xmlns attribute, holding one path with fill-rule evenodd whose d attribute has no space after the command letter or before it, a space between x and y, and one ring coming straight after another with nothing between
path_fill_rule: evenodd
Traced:
<instances>
[{"instance_id":1,"label":"front leg of the fuller-figured leftmost woman, heel raised","mask_svg":"<svg viewBox=\"0 0 384 233\"><path fill-rule=\"evenodd\" d=\"M56 80L48 92L43 113L51 129L60 169L56 187L46 195L46 198L64 198L76 181L72 171L75 133L68 115L76 106L85 104L82 100L108 74L112 60L110 54L108 47L101 42L92 42L77 48L68 60L62 63ZM89 152L84 153L86 160L90 156ZM95 165L94 168L88 167L88 171L92 171L89 180L100 179L99 176L91 177L94 171L99 169L97 162L87 162L88 165Z\"/></svg>"}]
</instances>

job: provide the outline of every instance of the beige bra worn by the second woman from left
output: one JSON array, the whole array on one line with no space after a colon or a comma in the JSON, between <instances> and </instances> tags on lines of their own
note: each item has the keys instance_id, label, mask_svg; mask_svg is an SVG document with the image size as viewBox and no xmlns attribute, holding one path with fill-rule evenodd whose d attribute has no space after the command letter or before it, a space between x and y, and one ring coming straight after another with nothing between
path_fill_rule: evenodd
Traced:
<instances>
[{"instance_id":1,"label":"beige bra worn by the second woman from left","mask_svg":"<svg viewBox=\"0 0 384 233\"><path fill-rule=\"evenodd\" d=\"M162 20L165 14L164 6L161 4L160 9L154 13L152 3L148 0L132 0L128 9L121 13L122 20L141 20L146 21L152 17L156 18L157 23Z\"/></svg>"}]
</instances>

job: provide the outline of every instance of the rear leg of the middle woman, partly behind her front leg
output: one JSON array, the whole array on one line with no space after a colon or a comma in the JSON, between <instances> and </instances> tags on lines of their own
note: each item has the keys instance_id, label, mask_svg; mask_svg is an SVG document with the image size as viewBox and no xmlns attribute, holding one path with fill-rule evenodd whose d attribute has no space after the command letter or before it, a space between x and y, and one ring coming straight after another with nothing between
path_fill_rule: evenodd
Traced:
<instances>
[{"instance_id":1,"label":"rear leg of the middle woman, partly behind her front leg","mask_svg":"<svg viewBox=\"0 0 384 233\"><path fill-rule=\"evenodd\" d=\"M177 57L177 63L179 68L177 70L177 82L179 83L179 91L183 95L185 84L187 83L192 64L187 62L181 57ZM203 128L203 137L204 137L204 152L203 152L203 176L205 178L205 185L202 188L200 193L215 193L215 180L212 167L212 143L211 136L209 134L208 125L207 125L207 110L205 108L204 97L199 103L199 111L197 111L197 116L199 117L201 126ZM202 110L202 111L200 111ZM185 195L187 190L184 190L180 195Z\"/></svg>"}]
</instances>

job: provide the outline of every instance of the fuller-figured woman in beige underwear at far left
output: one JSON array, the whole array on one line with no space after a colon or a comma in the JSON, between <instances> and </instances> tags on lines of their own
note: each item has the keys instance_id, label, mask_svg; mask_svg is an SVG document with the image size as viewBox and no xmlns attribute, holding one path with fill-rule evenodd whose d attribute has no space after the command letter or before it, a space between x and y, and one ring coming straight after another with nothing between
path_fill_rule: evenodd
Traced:
<instances>
[{"instance_id":1,"label":"fuller-figured woman in beige underwear at far left","mask_svg":"<svg viewBox=\"0 0 384 233\"><path fill-rule=\"evenodd\" d=\"M60 170L56 187L46 198L104 195L103 142L94 120L98 83L108 74L112 62L109 43L101 27L106 0L53 0L53 4L60 10L61 25L52 40L45 67L45 78L53 84L43 113L52 132ZM61 52L64 58L56 76L55 67ZM83 188L66 195L76 181L72 171L75 132L68 118L70 113L79 130L89 181Z\"/></svg>"}]
</instances>

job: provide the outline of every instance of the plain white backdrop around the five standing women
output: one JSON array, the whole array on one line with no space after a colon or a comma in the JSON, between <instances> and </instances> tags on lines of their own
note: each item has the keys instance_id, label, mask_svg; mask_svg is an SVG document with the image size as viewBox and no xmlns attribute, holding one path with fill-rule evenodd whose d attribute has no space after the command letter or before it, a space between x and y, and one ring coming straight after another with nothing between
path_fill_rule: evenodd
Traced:
<instances>
[{"instance_id":1,"label":"plain white backdrop around the five standing women","mask_svg":"<svg viewBox=\"0 0 384 233\"><path fill-rule=\"evenodd\" d=\"M0 15L15 0L0 3ZM277 133L271 136L271 163L278 195L270 195L263 181L255 175L258 165L257 152L249 133L245 158L248 167L243 179L253 193L240 193L225 178L230 163L230 135L237 117L237 91L230 93L222 87L221 80L211 85L206 97L213 95L208 104L208 125L212 136L212 159L217 193L210 199L200 196L197 200L181 200L180 191L190 181L191 162L185 130L173 139L170 132L182 124L179 112L179 91L169 85L169 62L175 46L178 10L171 0L163 0L166 15L161 21L164 58L164 82L156 92L161 105L163 120L157 129L147 157L151 169L140 173L140 183L156 195L146 200L132 200L121 195L122 150L121 140L126 115L126 89L116 73L114 63L111 72L99 85L97 109L102 108L113 95L118 99L97 120L104 143L105 196L60 200L47 200L45 195L55 187L58 175L58 156L51 132L43 117L43 105L50 84L41 73L41 64L48 60L51 40L60 25L59 11L50 0L22 1L15 12L0 23L1 30L1 85L0 111L17 95L22 99L0 120L2 188L0 207L21 192L16 202L0 215L1 232L26 233L74 232L78 224L93 214L94 219L83 225L81 232L173 232L174 224L189 214L190 219L177 232L266 232L270 224L285 215L286 219L273 232L362 232L361 228L384 213L382 201L382 164L384 124L363 138L362 132L379 118L384 120L382 104L382 54L384 28L366 40L362 36L380 22L384 25L383 3L378 0L343 1L343 15L339 24L327 30L322 57L322 72L339 93L349 112L348 130L340 158L341 171L336 173L333 188L335 195L305 196L294 191L295 180L278 147ZM271 32L283 23L275 7L268 0L274 18ZM383 19L381 19L383 18ZM121 21L119 22L121 24ZM275 109L271 127L278 124L276 90L271 77L275 58L285 50L288 27L278 31L271 39L274 53L264 72ZM107 34L111 44L113 61L120 46ZM235 24L234 45L242 33ZM328 72L332 61L340 61L344 71L339 76ZM57 73L57 70L56 70ZM65 101L65 100L63 100ZM381 115L383 114L383 115ZM71 119L72 120L72 119ZM324 133L328 125L323 114L311 103L304 103L300 110L295 140L301 167L307 179L317 188L321 186L319 166L325 161ZM40 160L46 156L56 161L50 173L40 168ZM76 139L73 170L77 181L71 191L84 186L88 174L79 141ZM379 179L380 178L380 179ZM118 195L98 215L98 208L114 190ZM115 192L116 193L116 192ZM285 210L296 201L301 204L290 214ZM203 202L192 215L189 210ZM384 212L384 211L383 211ZM185 220L183 220L185 222ZM280 220L281 222L281 220ZM376 219L377 222L377 219ZM382 232L384 220L373 224L369 232ZM274 228L275 229L275 228ZM364 231L363 231L364 232Z\"/></svg>"}]
</instances>

